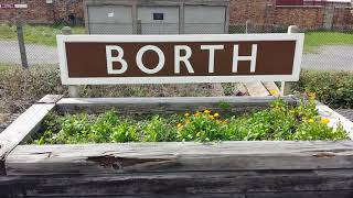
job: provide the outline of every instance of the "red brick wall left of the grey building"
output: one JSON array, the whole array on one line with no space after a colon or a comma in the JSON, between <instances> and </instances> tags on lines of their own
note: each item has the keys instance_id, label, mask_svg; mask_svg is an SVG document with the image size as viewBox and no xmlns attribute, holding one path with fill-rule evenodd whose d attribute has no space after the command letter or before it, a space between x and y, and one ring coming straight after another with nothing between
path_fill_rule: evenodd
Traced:
<instances>
[{"instance_id":1,"label":"red brick wall left of the grey building","mask_svg":"<svg viewBox=\"0 0 353 198\"><path fill-rule=\"evenodd\" d=\"M19 0L7 0L7 3L18 3ZM55 21L69 21L74 15L76 21L83 21L83 0L54 0L49 4L45 0L25 0L28 9L0 9L0 21L13 21L21 16L29 23L54 23ZM71 18L73 19L73 18Z\"/></svg>"}]
</instances>

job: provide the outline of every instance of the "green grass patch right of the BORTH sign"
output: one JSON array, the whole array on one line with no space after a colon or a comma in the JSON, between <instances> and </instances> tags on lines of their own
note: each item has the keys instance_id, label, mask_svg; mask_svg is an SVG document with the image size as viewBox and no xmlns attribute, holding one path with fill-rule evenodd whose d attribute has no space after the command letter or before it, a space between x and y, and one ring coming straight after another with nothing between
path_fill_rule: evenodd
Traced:
<instances>
[{"instance_id":1,"label":"green grass patch right of the BORTH sign","mask_svg":"<svg viewBox=\"0 0 353 198\"><path fill-rule=\"evenodd\" d=\"M353 33L307 32L304 52L314 53L324 45L353 45Z\"/></svg>"}]
</instances>

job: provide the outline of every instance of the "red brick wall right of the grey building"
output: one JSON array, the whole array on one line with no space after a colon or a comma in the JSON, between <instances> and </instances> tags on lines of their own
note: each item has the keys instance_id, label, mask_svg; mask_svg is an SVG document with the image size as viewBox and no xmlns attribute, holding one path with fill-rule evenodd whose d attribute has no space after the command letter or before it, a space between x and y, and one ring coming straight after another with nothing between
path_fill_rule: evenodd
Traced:
<instances>
[{"instance_id":1,"label":"red brick wall right of the grey building","mask_svg":"<svg viewBox=\"0 0 353 198\"><path fill-rule=\"evenodd\" d=\"M332 7L332 4L328 4ZM245 25L249 20L256 25L322 29L325 7L322 6L276 6L276 0L229 0L229 24ZM353 15L349 7L334 9L333 26L352 26Z\"/></svg>"}]
</instances>

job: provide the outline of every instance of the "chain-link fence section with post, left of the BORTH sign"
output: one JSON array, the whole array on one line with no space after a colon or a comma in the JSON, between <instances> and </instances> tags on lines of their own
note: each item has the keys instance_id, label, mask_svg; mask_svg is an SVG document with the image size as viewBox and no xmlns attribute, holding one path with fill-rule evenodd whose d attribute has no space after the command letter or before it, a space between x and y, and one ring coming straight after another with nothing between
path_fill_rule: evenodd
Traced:
<instances>
[{"instance_id":1,"label":"chain-link fence section with post, left of the BORTH sign","mask_svg":"<svg viewBox=\"0 0 353 198\"><path fill-rule=\"evenodd\" d=\"M84 28L73 28L84 33ZM57 65L56 35L61 26L0 23L0 66Z\"/></svg>"}]
</instances>

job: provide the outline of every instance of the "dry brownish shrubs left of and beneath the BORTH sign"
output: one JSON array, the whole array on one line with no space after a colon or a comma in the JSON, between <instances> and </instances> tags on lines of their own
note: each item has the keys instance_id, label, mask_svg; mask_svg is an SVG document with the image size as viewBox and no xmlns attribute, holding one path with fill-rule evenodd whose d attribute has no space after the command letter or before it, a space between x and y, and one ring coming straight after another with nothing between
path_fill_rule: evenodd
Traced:
<instances>
[{"instance_id":1,"label":"dry brownish shrubs left of and beneath the BORTH sign","mask_svg":"<svg viewBox=\"0 0 353 198\"><path fill-rule=\"evenodd\" d=\"M8 66L11 67L11 66ZM54 65L30 69L11 67L0 73L0 112L22 112L45 95L67 96ZM211 96L208 84L79 86L81 97L176 97Z\"/></svg>"}]
</instances>

